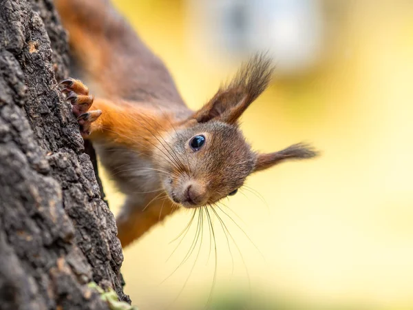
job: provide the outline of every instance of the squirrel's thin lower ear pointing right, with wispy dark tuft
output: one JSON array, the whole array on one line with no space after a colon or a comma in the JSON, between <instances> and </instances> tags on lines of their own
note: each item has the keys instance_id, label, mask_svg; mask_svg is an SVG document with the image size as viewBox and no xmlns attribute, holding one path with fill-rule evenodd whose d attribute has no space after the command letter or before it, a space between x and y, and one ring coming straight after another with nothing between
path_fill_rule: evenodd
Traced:
<instances>
[{"instance_id":1,"label":"squirrel's thin lower ear pointing right, with wispy dark tuft","mask_svg":"<svg viewBox=\"0 0 413 310\"><path fill-rule=\"evenodd\" d=\"M284 161L313 158L317 155L319 155L319 152L317 152L310 145L297 143L290 145L286 149L282 149L282 151L279 152L257 154L257 162L255 163L253 172L273 167L273 165L277 165L278 163L282 163Z\"/></svg>"}]
</instances>

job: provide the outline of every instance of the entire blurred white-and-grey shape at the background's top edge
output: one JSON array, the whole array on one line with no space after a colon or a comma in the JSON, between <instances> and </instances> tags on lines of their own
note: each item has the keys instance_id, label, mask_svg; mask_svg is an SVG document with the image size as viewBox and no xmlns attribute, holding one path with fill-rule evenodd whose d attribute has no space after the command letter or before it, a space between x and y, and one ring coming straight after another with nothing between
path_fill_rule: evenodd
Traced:
<instances>
[{"instance_id":1,"label":"entire blurred white-and-grey shape at the background's top edge","mask_svg":"<svg viewBox=\"0 0 413 310\"><path fill-rule=\"evenodd\" d=\"M233 59L268 51L278 75L301 74L321 59L319 0L191 0L190 8L193 35L211 54Z\"/></svg>"}]
</instances>

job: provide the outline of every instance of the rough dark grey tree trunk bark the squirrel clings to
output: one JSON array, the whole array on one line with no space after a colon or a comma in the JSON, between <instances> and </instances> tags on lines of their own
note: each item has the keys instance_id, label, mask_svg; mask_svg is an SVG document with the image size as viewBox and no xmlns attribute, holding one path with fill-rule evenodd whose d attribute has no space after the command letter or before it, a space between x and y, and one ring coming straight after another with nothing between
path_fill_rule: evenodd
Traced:
<instances>
[{"instance_id":1,"label":"rough dark grey tree trunk bark the squirrel clings to","mask_svg":"<svg viewBox=\"0 0 413 310\"><path fill-rule=\"evenodd\" d=\"M92 280L129 301L114 216L57 87L67 52L51 0L0 0L0 309L108 309Z\"/></svg>"}]
</instances>

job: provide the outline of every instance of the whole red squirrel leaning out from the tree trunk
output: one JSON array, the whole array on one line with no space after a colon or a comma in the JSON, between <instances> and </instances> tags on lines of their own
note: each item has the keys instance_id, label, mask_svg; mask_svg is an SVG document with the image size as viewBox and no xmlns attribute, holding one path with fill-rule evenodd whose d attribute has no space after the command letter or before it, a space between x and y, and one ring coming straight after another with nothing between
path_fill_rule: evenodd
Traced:
<instances>
[{"instance_id":1,"label":"whole red squirrel leaning out from the tree trunk","mask_svg":"<svg viewBox=\"0 0 413 310\"><path fill-rule=\"evenodd\" d=\"M235 194L250 174L317 155L304 143L255 152L240 131L240 116L273 74L265 54L192 111L162 61L108 0L54 3L78 66L100 94L94 98L78 79L61 82L83 138L127 196L116 218L123 247L181 207Z\"/></svg>"}]
</instances>

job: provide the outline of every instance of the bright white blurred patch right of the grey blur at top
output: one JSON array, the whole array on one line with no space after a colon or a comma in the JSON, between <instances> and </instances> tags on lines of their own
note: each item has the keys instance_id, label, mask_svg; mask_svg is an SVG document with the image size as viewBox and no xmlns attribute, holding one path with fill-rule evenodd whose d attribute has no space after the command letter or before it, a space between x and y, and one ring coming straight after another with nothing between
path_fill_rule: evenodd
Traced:
<instances>
[{"instance_id":1,"label":"bright white blurred patch right of the grey blur at top","mask_svg":"<svg viewBox=\"0 0 413 310\"><path fill-rule=\"evenodd\" d=\"M278 74L297 74L316 65L322 45L317 0L251 1L251 50L275 55Z\"/></svg>"}]
</instances>

